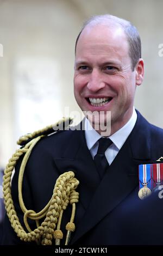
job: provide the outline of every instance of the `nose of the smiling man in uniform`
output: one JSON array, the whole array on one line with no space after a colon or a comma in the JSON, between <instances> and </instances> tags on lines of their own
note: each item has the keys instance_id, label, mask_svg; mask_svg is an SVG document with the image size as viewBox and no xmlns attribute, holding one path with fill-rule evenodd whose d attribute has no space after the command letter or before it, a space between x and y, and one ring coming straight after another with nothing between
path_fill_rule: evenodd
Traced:
<instances>
[{"instance_id":1,"label":"nose of the smiling man in uniform","mask_svg":"<svg viewBox=\"0 0 163 256\"><path fill-rule=\"evenodd\" d=\"M102 76L99 70L92 70L89 81L87 83L87 88L91 92L97 92L105 87L105 83L102 81Z\"/></svg>"}]
</instances>

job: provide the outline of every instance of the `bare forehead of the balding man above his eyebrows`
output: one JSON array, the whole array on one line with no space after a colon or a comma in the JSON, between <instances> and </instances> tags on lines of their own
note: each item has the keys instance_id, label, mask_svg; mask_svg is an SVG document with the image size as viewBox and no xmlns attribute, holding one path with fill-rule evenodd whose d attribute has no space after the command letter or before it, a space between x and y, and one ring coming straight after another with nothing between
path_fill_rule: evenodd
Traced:
<instances>
[{"instance_id":1,"label":"bare forehead of the balding man above his eyebrows","mask_svg":"<svg viewBox=\"0 0 163 256\"><path fill-rule=\"evenodd\" d=\"M123 29L104 25L85 27L77 43L76 59L89 56L128 58L129 45Z\"/></svg>"}]
</instances>

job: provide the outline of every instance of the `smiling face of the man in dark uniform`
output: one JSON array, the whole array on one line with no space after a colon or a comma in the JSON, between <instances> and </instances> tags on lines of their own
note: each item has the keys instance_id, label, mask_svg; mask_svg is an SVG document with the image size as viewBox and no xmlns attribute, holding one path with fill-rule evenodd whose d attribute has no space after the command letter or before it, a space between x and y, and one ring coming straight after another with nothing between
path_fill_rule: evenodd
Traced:
<instances>
[{"instance_id":1,"label":"smiling face of the man in dark uniform","mask_svg":"<svg viewBox=\"0 0 163 256\"><path fill-rule=\"evenodd\" d=\"M74 64L74 96L83 111L111 112L111 134L133 112L136 74L121 28L86 27L79 37Z\"/></svg>"}]
</instances>

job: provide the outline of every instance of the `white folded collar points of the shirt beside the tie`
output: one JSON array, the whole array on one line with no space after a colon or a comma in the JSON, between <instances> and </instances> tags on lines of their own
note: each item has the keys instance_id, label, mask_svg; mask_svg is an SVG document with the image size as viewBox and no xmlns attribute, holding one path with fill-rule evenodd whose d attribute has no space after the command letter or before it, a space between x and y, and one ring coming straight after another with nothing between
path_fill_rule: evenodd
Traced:
<instances>
[{"instance_id":1,"label":"white folded collar points of the shirt beside the tie","mask_svg":"<svg viewBox=\"0 0 163 256\"><path fill-rule=\"evenodd\" d=\"M116 131L114 134L108 137L115 144L118 150L122 148L124 142L130 135L131 131L133 130L134 125L136 123L136 119L137 114L135 108L133 108L133 114L131 115L129 121L120 130ZM93 129L87 118L85 118L85 138L89 150L93 147L93 145L96 144L98 139L101 138L101 135L99 135L99 133Z\"/></svg>"}]
</instances>

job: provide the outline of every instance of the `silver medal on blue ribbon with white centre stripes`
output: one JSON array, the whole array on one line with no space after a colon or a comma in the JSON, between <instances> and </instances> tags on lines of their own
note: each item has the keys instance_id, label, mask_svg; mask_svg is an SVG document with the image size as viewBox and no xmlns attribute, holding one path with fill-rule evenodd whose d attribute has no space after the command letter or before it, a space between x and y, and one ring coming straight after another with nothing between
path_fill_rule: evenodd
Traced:
<instances>
[{"instance_id":1,"label":"silver medal on blue ribbon with white centre stripes","mask_svg":"<svg viewBox=\"0 0 163 256\"><path fill-rule=\"evenodd\" d=\"M140 164L139 166L139 193L140 199L151 195L152 190L152 164Z\"/></svg>"}]
</instances>

